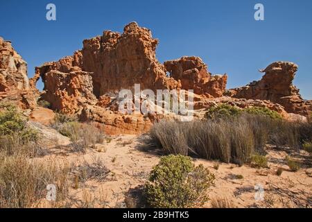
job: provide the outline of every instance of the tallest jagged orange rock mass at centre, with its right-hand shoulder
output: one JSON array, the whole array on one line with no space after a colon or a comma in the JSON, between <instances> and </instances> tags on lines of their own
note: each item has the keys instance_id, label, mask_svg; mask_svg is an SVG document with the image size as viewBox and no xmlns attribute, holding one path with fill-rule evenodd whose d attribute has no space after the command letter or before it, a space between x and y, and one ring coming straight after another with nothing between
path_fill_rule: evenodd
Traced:
<instances>
[{"instance_id":1,"label":"tallest jagged orange rock mass at centre, with its right-hand shoulder","mask_svg":"<svg viewBox=\"0 0 312 222\"><path fill-rule=\"evenodd\" d=\"M162 65L155 55L157 43L150 30L139 27L135 22L125 26L122 34L104 31L102 36L84 40L83 49L76 51L73 56L37 67L31 85L42 77L43 99L51 103L53 109L66 113L77 112L83 103L96 103L92 93L100 99L98 105L103 107L109 99L103 101L101 96L119 92L120 89L132 89L136 83L140 84L141 89L154 91L182 88L194 89L207 97L222 96L226 75L211 76L204 62L196 57L184 57ZM172 78L166 76L166 71L173 73ZM80 76L85 81L87 77L83 78L83 73L91 78L87 80L87 87L76 85L80 87L78 91L86 95L83 101L77 103L79 94L70 92L74 84L70 87L65 85L73 76ZM77 83L77 80L72 82Z\"/></svg>"}]
</instances>

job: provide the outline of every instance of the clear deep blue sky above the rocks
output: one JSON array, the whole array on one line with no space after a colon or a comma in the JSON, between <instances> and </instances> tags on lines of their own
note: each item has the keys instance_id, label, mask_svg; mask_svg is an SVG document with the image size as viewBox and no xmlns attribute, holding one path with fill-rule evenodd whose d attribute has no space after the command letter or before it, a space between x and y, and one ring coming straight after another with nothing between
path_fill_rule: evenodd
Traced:
<instances>
[{"instance_id":1,"label":"clear deep blue sky above the rocks","mask_svg":"<svg viewBox=\"0 0 312 222\"><path fill-rule=\"evenodd\" d=\"M46 20L47 3L56 5L55 22ZM265 7L263 22L254 20L256 3ZM160 40L160 62L200 56L212 73L227 73L232 88L261 78L257 70L271 62L292 61L300 66L295 85L312 99L311 0L0 0L0 21L0 36L28 62L29 76L81 49L84 39L136 21Z\"/></svg>"}]
</instances>

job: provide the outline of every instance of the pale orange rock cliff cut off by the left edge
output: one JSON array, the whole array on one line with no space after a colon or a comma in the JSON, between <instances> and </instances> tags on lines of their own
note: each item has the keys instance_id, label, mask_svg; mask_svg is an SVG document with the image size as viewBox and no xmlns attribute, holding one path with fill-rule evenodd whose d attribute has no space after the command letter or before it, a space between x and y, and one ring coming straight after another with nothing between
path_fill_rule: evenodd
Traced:
<instances>
[{"instance_id":1,"label":"pale orange rock cliff cut off by the left edge","mask_svg":"<svg viewBox=\"0 0 312 222\"><path fill-rule=\"evenodd\" d=\"M35 108L37 89L29 84L27 63L12 47L10 41L0 37L0 101Z\"/></svg>"}]
</instances>

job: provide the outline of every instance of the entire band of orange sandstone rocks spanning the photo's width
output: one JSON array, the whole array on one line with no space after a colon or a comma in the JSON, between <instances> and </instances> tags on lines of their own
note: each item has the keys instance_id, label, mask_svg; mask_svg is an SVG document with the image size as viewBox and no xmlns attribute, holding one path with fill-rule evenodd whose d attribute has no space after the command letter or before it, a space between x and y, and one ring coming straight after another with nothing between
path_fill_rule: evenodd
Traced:
<instances>
[{"instance_id":1,"label":"entire band of orange sandstone rocks spanning the photo's width","mask_svg":"<svg viewBox=\"0 0 312 222\"><path fill-rule=\"evenodd\" d=\"M35 85L42 78L44 91L40 99L49 102L51 109L77 114L81 121L103 123L109 134L144 133L159 119L180 118L175 114L119 112L123 100L118 98L119 90L133 89L135 84L140 84L141 90L154 92L193 89L195 117L219 103L240 108L266 107L290 120L312 111L312 101L304 101L293 85L298 67L292 62L274 62L261 70L265 73L261 80L225 91L226 74L212 75L207 65L194 56L162 65L155 55L157 44L150 30L132 22L121 34L104 31L101 36L84 40L83 49L36 67L35 76L28 80L26 62L10 42L0 38L0 101L15 101L21 108L32 110L31 119L49 124L53 119L51 110L36 107L39 92Z\"/></svg>"}]
</instances>

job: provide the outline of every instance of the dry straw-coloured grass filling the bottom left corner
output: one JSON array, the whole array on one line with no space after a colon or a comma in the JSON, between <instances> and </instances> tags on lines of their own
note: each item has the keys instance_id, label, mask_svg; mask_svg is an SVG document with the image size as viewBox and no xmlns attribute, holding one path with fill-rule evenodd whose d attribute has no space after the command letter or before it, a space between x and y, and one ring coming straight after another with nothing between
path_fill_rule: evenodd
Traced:
<instances>
[{"instance_id":1,"label":"dry straw-coloured grass filling the bottom left corner","mask_svg":"<svg viewBox=\"0 0 312 222\"><path fill-rule=\"evenodd\" d=\"M67 197L67 164L28 160L23 155L0 159L0 207L35 207L46 197L49 184L57 188L57 201Z\"/></svg>"}]
</instances>

